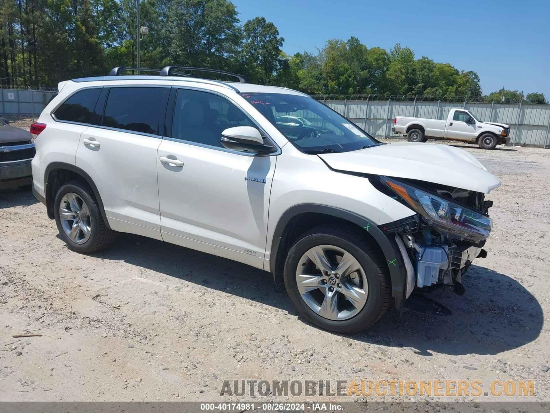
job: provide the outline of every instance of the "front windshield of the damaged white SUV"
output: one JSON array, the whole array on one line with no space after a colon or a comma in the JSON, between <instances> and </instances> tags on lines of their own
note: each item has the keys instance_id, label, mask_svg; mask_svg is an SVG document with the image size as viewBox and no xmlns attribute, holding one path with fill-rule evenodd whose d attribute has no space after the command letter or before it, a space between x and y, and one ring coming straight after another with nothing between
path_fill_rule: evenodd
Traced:
<instances>
[{"instance_id":1,"label":"front windshield of the damaged white SUV","mask_svg":"<svg viewBox=\"0 0 550 413\"><path fill-rule=\"evenodd\" d=\"M282 93L241 96L307 154L348 152L378 144L348 119L311 97Z\"/></svg>"}]
</instances>

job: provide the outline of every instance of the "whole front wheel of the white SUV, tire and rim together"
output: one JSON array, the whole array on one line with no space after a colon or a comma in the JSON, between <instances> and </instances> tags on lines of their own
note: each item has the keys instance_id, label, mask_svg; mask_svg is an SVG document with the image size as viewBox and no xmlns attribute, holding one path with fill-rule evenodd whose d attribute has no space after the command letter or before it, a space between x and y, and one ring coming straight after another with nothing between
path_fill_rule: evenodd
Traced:
<instances>
[{"instance_id":1,"label":"whole front wheel of the white SUV, tire and rim together","mask_svg":"<svg viewBox=\"0 0 550 413\"><path fill-rule=\"evenodd\" d=\"M284 285L302 317L337 333L365 330L390 303L382 253L361 230L321 225L298 237L284 266Z\"/></svg>"}]
</instances>

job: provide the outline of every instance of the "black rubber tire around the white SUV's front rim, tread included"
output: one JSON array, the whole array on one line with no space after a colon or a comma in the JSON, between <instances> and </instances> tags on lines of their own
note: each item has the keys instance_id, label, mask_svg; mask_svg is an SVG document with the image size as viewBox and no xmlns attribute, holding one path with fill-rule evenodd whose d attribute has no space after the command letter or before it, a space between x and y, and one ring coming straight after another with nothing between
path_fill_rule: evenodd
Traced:
<instances>
[{"instance_id":1,"label":"black rubber tire around the white SUV's front rim, tread included","mask_svg":"<svg viewBox=\"0 0 550 413\"><path fill-rule=\"evenodd\" d=\"M361 229L340 225L320 225L299 236L290 248L284 265L284 285L299 314L312 324L337 333L357 333L376 323L386 312L391 298L391 282L386 259L368 241ZM331 320L313 311L300 295L296 284L296 268L300 258L312 247L329 244L351 253L365 269L368 296L364 307L354 317Z\"/></svg>"}]
</instances>

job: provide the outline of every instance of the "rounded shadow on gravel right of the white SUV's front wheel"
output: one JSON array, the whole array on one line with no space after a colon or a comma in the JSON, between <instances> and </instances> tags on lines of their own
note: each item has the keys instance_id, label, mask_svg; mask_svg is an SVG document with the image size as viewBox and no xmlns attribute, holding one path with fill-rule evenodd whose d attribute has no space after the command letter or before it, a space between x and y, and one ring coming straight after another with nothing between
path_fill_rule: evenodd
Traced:
<instances>
[{"instance_id":1,"label":"rounded shadow on gravel right of the white SUV's front wheel","mask_svg":"<svg viewBox=\"0 0 550 413\"><path fill-rule=\"evenodd\" d=\"M535 340L543 313L537 299L518 281L488 268L471 265L463 278L464 296L448 287L426 295L453 311L450 317L428 317L392 308L355 339L373 344L412 347L416 354L496 355Z\"/></svg>"}]
</instances>

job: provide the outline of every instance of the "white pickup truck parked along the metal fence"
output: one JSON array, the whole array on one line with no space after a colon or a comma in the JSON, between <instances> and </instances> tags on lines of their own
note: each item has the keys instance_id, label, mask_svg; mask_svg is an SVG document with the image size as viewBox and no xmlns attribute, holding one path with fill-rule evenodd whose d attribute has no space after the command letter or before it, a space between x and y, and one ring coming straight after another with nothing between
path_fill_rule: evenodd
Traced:
<instances>
[{"instance_id":1,"label":"white pickup truck parked along the metal fence","mask_svg":"<svg viewBox=\"0 0 550 413\"><path fill-rule=\"evenodd\" d=\"M450 139L477 143L481 149L494 149L497 144L507 143L510 126L482 122L468 110L452 109L446 121L398 116L393 119L392 132L406 135L409 142Z\"/></svg>"}]
</instances>

